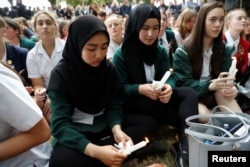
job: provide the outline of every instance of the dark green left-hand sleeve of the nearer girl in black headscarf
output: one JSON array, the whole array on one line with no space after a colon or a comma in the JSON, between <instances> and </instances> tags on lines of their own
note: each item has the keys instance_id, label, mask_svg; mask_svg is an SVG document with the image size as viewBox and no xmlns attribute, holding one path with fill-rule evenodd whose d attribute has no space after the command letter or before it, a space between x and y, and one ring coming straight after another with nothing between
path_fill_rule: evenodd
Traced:
<instances>
[{"instance_id":1,"label":"dark green left-hand sleeve of the nearer girl in black headscarf","mask_svg":"<svg viewBox=\"0 0 250 167\"><path fill-rule=\"evenodd\" d=\"M51 101L51 131L55 141L83 153L90 141L77 130L77 124L72 123L71 116L74 107L71 102L55 91L48 92Z\"/></svg>"}]
</instances>

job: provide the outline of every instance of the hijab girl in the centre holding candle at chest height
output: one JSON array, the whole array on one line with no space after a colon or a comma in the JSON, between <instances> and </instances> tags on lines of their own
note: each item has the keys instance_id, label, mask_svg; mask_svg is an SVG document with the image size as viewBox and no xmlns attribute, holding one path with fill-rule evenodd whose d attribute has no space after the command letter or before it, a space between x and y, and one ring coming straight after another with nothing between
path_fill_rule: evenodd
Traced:
<instances>
[{"instance_id":1,"label":"hijab girl in the centre holding candle at chest height","mask_svg":"<svg viewBox=\"0 0 250 167\"><path fill-rule=\"evenodd\" d=\"M191 88L175 88L172 76L161 90L152 86L153 80L161 80L170 68L169 55L158 45L160 20L159 10L152 5L142 4L132 10L123 45L116 51L113 63L126 97L123 105L125 116L149 115L159 125L179 127L180 142L175 144L175 151L179 153L177 166L185 166L188 165L185 119L198 114L198 100Z\"/></svg>"}]
</instances>

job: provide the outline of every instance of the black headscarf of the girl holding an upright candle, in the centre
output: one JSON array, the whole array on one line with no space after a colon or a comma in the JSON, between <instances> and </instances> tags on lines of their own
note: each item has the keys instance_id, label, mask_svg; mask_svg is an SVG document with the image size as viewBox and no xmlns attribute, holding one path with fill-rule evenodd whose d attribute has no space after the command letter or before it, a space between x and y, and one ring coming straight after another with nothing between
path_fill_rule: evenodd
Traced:
<instances>
[{"instance_id":1,"label":"black headscarf of the girl holding an upright candle, in the centre","mask_svg":"<svg viewBox=\"0 0 250 167\"><path fill-rule=\"evenodd\" d=\"M127 66L129 73L133 77L132 80L135 82L145 82L143 63L152 65L157 58L158 40L155 40L152 45L148 46L143 44L139 39L139 32L145 21L149 18L156 18L160 29L160 11L153 5L141 4L131 11L126 25L121 50L128 63ZM138 73L134 73L134 71Z\"/></svg>"}]
</instances>

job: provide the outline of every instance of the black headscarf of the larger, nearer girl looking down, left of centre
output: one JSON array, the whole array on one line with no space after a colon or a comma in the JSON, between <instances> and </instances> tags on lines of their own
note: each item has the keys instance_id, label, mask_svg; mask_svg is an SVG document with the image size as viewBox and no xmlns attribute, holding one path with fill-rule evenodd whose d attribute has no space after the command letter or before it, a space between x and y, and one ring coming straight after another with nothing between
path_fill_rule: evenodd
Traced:
<instances>
[{"instance_id":1,"label":"black headscarf of the larger, nearer girl looking down, left of centre","mask_svg":"<svg viewBox=\"0 0 250 167\"><path fill-rule=\"evenodd\" d=\"M81 58L82 48L98 32L109 41L104 23L95 16L77 18L69 27L63 51L63 59L51 73L48 91L56 91L71 98L74 107L86 113L100 112L109 99L113 73L111 63L103 59L98 67L92 67Z\"/></svg>"}]
</instances>

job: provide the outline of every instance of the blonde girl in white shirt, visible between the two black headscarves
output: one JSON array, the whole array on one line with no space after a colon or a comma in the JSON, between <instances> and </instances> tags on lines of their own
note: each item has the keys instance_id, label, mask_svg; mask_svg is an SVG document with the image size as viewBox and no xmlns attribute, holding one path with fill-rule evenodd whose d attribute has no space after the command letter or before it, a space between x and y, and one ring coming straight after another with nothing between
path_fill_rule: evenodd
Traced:
<instances>
[{"instance_id":1,"label":"blonde girl in white shirt, visible between the two black headscarves","mask_svg":"<svg viewBox=\"0 0 250 167\"><path fill-rule=\"evenodd\" d=\"M107 59L112 62L112 58L116 52L116 49L122 44L123 41L124 25L122 18L116 14L111 14L108 16L104 23L107 27L110 37Z\"/></svg>"}]
</instances>

